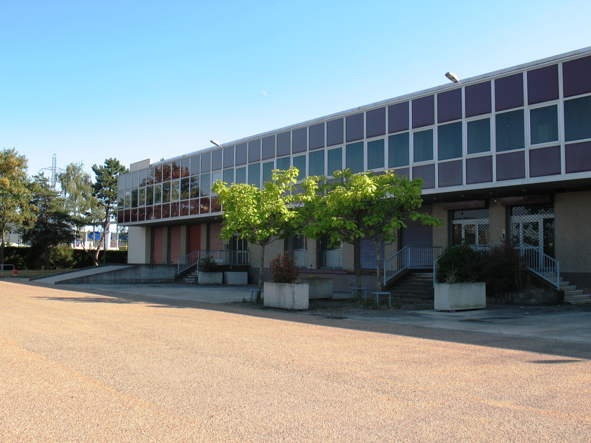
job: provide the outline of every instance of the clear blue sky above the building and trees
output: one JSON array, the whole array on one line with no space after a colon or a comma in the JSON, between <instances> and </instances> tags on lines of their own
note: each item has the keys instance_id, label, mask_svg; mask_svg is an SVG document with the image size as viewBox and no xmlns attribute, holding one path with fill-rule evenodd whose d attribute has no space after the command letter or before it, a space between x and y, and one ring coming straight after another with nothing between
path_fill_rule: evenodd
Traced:
<instances>
[{"instance_id":1,"label":"clear blue sky above the building and trees","mask_svg":"<svg viewBox=\"0 0 591 443\"><path fill-rule=\"evenodd\" d=\"M30 172L229 142L591 45L591 2L0 0L0 148Z\"/></svg>"}]
</instances>

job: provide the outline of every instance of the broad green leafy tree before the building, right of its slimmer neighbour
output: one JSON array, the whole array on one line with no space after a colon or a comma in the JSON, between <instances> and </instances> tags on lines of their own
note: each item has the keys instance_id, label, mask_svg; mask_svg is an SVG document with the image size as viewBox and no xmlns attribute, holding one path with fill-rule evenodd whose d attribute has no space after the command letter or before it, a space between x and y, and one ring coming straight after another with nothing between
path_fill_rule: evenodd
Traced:
<instances>
[{"instance_id":1,"label":"broad green leafy tree before the building, right of its slimmer neighbour","mask_svg":"<svg viewBox=\"0 0 591 443\"><path fill-rule=\"evenodd\" d=\"M316 235L323 231L329 233L332 242L342 240L353 243L358 239L369 239L376 250L376 288L381 291L382 243L391 243L397 239L398 230L407 226L405 217L433 226L439 226L442 222L437 217L416 210L423 203L421 178L408 180L394 171L352 174L349 170L337 171L335 177L337 181L329 184L327 190L323 190L322 183L327 181L324 177L311 177L306 181L304 187L307 198L304 200L312 203L313 216L310 218L314 220L307 226L312 226L313 231L316 229ZM321 185L315 184L318 182ZM315 197L314 194L320 194L321 197ZM318 227L314 227L314 224ZM310 231L310 227L307 231ZM358 284L359 280L358 274Z\"/></svg>"}]
</instances>

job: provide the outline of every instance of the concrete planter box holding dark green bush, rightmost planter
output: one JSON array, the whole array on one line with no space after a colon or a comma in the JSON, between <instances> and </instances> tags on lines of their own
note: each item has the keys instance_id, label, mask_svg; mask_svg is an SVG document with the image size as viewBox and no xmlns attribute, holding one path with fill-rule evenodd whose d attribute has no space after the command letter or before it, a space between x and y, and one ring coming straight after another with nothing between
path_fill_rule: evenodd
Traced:
<instances>
[{"instance_id":1,"label":"concrete planter box holding dark green bush, rightmost planter","mask_svg":"<svg viewBox=\"0 0 591 443\"><path fill-rule=\"evenodd\" d=\"M486 308L486 284L482 282L437 283L434 308L437 311Z\"/></svg>"}]
</instances>

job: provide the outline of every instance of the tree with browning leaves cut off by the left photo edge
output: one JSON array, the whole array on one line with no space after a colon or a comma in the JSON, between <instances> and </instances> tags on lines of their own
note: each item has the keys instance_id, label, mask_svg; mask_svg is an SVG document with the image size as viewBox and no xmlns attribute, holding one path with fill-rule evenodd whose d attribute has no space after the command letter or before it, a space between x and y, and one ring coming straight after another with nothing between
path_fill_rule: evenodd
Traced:
<instances>
[{"instance_id":1,"label":"tree with browning leaves cut off by the left photo edge","mask_svg":"<svg viewBox=\"0 0 591 443\"><path fill-rule=\"evenodd\" d=\"M19 229L34 219L31 207L31 181L27 158L15 149L0 151L0 265L4 265L4 246L12 227Z\"/></svg>"}]
</instances>

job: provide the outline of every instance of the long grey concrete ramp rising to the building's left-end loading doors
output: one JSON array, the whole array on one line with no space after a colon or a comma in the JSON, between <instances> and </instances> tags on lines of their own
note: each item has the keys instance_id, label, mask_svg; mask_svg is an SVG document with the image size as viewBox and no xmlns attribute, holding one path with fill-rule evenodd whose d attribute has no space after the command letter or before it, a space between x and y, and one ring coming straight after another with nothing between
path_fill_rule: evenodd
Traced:
<instances>
[{"instance_id":1,"label":"long grey concrete ramp rising to the building's left-end loading doors","mask_svg":"<svg viewBox=\"0 0 591 443\"><path fill-rule=\"evenodd\" d=\"M35 277L30 281L54 285L172 283L177 265L100 265Z\"/></svg>"}]
</instances>

